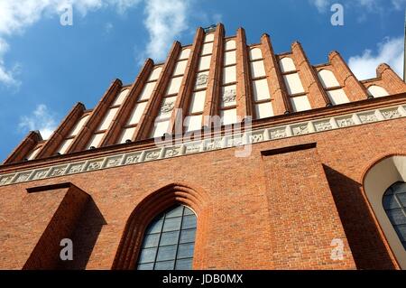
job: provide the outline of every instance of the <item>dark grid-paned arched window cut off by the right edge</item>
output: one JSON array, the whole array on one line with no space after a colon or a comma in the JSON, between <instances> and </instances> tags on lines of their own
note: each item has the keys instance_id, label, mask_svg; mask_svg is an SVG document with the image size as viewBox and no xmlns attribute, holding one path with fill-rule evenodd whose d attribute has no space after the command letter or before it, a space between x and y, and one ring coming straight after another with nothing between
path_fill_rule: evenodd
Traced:
<instances>
[{"instance_id":1,"label":"dark grid-paned arched window cut off by the right edge","mask_svg":"<svg viewBox=\"0 0 406 288\"><path fill-rule=\"evenodd\" d=\"M406 183L398 181L383 194L383 209L406 249Z\"/></svg>"}]
</instances>

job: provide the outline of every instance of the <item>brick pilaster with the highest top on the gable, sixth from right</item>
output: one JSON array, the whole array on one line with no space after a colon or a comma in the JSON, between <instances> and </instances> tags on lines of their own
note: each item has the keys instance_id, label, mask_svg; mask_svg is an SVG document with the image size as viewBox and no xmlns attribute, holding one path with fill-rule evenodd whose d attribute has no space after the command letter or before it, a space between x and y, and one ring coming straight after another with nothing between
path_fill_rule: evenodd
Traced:
<instances>
[{"instance_id":1,"label":"brick pilaster with the highest top on the gable, sixth from right","mask_svg":"<svg viewBox=\"0 0 406 288\"><path fill-rule=\"evenodd\" d=\"M207 126L210 126L211 117L218 115L218 99L220 97L224 59L224 36L224 25L219 23L217 24L215 32L213 55L210 61L210 70L208 72L208 89L203 110L203 125Z\"/></svg>"}]
</instances>

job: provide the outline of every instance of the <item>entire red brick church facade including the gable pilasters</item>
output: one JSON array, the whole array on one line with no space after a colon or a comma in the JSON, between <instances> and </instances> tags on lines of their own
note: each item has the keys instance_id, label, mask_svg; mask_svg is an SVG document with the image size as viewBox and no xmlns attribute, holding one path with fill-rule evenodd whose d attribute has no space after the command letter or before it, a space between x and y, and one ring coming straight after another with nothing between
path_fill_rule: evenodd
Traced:
<instances>
[{"instance_id":1,"label":"entire red brick church facade including the gable pilasters","mask_svg":"<svg viewBox=\"0 0 406 288\"><path fill-rule=\"evenodd\" d=\"M176 108L189 109L205 33L199 28L193 44L186 46L190 55ZM147 60L131 86L115 80L93 110L78 104L49 140L32 132L0 166L0 268L132 269L146 226L162 210L181 203L198 217L194 269L401 269L365 197L363 181L379 159L406 154L406 85L387 65L379 67L376 79L360 82L337 52L330 53L327 64L311 66L299 42L291 52L275 55L268 35L247 46L243 29L235 38L224 33L217 25L202 115L219 113L229 39L235 40L237 115L255 113L248 57L251 49L260 48L266 72L260 79L266 79L274 116L254 117L252 135L262 134L259 141L246 135L252 152L235 157L243 147L222 144L188 153L186 145L175 157L165 149L152 157L151 130L184 49L175 42L163 65ZM293 60L296 71L291 73L299 74L312 109L293 111L296 95L290 95L279 62L284 57ZM156 67L162 67L161 74L132 141L118 144ZM318 78L322 69L333 72L348 103L332 105ZM389 96L368 97L372 85ZM115 106L117 94L127 88L123 104ZM118 113L106 131L97 132L112 107ZM71 135L87 115L78 135ZM171 123L177 117L172 114ZM222 129L222 136L231 133L229 126ZM89 150L95 133L104 133L103 139ZM56 154L66 139L73 139L66 153ZM39 147L34 159L23 161ZM138 163L125 162L141 151ZM119 154L123 158L110 166ZM99 159L103 161L93 166ZM78 172L72 170L75 163L84 163ZM59 167L65 168L57 172ZM62 238L73 241L73 261L60 260ZM331 257L334 239L344 244L341 260Z\"/></svg>"}]
</instances>

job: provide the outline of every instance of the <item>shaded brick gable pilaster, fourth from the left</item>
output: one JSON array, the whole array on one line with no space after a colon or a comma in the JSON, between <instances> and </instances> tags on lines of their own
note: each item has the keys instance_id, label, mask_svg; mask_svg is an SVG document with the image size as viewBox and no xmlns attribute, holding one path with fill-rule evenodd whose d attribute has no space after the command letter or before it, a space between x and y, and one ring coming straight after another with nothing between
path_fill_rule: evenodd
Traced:
<instances>
[{"instance_id":1,"label":"shaded brick gable pilaster, fourth from the left","mask_svg":"<svg viewBox=\"0 0 406 288\"><path fill-rule=\"evenodd\" d=\"M125 102L118 110L117 116L113 120L113 124L111 125L109 131L107 131L102 146L112 145L117 142L118 138L121 135L121 131L125 126L125 123L127 123L128 118L131 116L131 112L135 106L137 98L145 87L145 83L150 76L152 69L153 60L147 59L143 64L143 69L138 74L137 78L134 81L134 84L130 88L128 95L125 98Z\"/></svg>"}]
</instances>

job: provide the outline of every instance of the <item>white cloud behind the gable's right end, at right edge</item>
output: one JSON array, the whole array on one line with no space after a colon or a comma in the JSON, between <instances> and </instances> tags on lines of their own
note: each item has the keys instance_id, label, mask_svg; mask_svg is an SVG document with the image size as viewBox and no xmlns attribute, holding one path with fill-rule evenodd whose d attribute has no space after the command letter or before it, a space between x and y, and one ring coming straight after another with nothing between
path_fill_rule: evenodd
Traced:
<instances>
[{"instance_id":1,"label":"white cloud behind the gable's right end, at right edge","mask_svg":"<svg viewBox=\"0 0 406 288\"><path fill-rule=\"evenodd\" d=\"M378 43L378 51L365 50L362 55L350 57L348 66L358 79L376 77L376 68L387 63L398 75L403 75L403 38L386 38Z\"/></svg>"}]
</instances>

